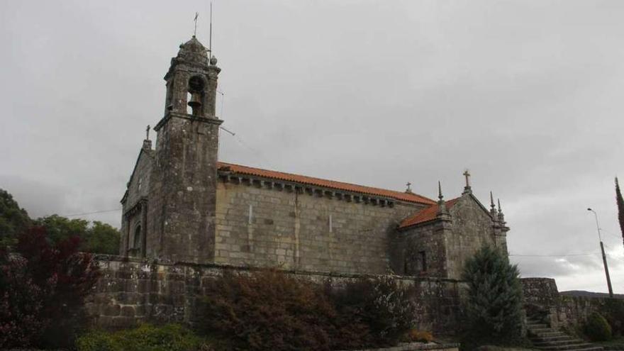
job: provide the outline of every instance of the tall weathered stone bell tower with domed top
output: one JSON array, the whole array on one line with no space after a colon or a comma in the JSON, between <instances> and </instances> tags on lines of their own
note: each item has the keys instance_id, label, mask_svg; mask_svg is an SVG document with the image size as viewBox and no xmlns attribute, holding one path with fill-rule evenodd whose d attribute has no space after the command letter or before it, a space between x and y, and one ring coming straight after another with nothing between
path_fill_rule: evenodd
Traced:
<instances>
[{"instance_id":1,"label":"tall weathered stone bell tower with domed top","mask_svg":"<svg viewBox=\"0 0 624 351\"><path fill-rule=\"evenodd\" d=\"M215 57L193 36L165 74L147 210L146 255L172 262L214 258L219 125Z\"/></svg>"}]
</instances>

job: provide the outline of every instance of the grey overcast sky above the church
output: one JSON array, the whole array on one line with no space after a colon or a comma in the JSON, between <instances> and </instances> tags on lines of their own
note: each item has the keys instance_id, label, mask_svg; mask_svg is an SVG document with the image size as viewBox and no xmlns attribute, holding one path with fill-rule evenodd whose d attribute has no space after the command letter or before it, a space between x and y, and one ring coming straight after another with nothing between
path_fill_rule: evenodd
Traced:
<instances>
[{"instance_id":1,"label":"grey overcast sky above the church","mask_svg":"<svg viewBox=\"0 0 624 351\"><path fill-rule=\"evenodd\" d=\"M116 210L204 1L0 1L0 188L30 216ZM616 293L624 1L214 0L220 159L500 197L525 277ZM152 133L153 135L153 133ZM121 211L82 216L119 226ZM578 255L584 254L584 255ZM545 256L550 255L550 256ZM574 255L557 257L557 255Z\"/></svg>"}]
</instances>

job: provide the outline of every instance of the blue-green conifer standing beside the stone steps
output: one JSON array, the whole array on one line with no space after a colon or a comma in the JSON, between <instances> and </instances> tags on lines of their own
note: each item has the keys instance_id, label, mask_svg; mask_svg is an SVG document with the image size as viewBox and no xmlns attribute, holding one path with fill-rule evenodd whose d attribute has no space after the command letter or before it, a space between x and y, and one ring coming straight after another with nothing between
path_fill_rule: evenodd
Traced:
<instances>
[{"instance_id":1,"label":"blue-green conifer standing beside the stone steps","mask_svg":"<svg viewBox=\"0 0 624 351\"><path fill-rule=\"evenodd\" d=\"M518 267L500 251L485 246L467 260L462 279L468 284L464 312L474 339L512 340L520 336L522 287Z\"/></svg>"}]
</instances>

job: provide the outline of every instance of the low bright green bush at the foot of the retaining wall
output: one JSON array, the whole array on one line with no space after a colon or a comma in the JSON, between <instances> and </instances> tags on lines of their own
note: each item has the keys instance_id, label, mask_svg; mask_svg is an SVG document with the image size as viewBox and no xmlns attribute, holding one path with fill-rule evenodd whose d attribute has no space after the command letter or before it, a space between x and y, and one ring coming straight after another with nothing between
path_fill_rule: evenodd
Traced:
<instances>
[{"instance_id":1,"label":"low bright green bush at the foot of the retaining wall","mask_svg":"<svg viewBox=\"0 0 624 351\"><path fill-rule=\"evenodd\" d=\"M204 339L182 325L140 325L113 333L92 331L78 338L78 351L193 351Z\"/></svg>"}]
</instances>

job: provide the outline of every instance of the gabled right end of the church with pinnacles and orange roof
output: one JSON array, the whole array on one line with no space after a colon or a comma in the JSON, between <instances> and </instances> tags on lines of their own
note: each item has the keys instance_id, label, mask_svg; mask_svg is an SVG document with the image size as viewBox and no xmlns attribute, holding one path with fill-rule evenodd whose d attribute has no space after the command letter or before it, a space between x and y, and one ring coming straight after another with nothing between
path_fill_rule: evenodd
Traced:
<instances>
[{"instance_id":1,"label":"gabled right end of the church with pinnacles and orange roof","mask_svg":"<svg viewBox=\"0 0 624 351\"><path fill-rule=\"evenodd\" d=\"M459 279L464 262L484 245L506 252L502 212L487 211L469 186L462 196L412 213L401 221L393 245L396 273ZM492 201L494 203L494 201Z\"/></svg>"}]
</instances>

